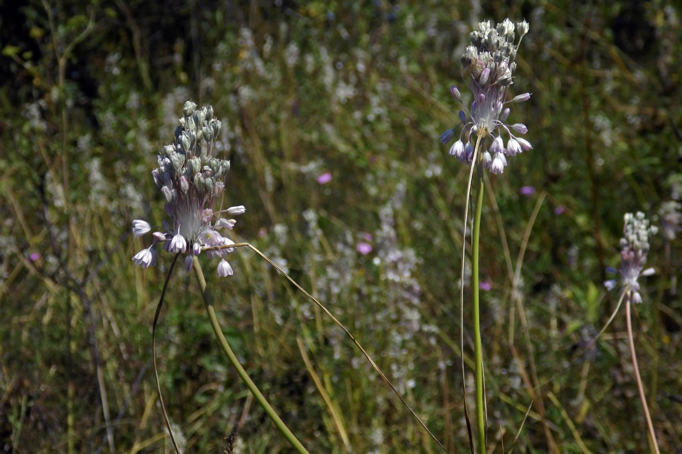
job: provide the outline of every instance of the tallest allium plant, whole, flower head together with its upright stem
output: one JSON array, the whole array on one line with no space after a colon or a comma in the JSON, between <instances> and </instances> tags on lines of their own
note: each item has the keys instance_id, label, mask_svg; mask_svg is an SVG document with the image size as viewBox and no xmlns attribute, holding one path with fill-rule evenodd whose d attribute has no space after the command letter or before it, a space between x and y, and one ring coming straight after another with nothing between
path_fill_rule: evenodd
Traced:
<instances>
[{"instance_id":1,"label":"tallest allium plant, whole, flower head together with its upright stem","mask_svg":"<svg viewBox=\"0 0 682 454\"><path fill-rule=\"evenodd\" d=\"M509 103L527 101L531 97L530 93L523 93L510 101L506 101L507 89L513 83L512 74L516 70L516 62L514 61L516 52L528 30L529 25L525 20L518 22L515 27L511 20L505 19L496 27L492 27L492 22L480 22L478 30L469 35L471 46L466 48L461 63L462 75L466 85L473 93L473 100L467 108L462 102L462 94L459 89L454 85L451 87L451 95L462 104L462 110L458 114L460 122L455 127L443 132L440 137L441 142L445 144L455 138L459 130L458 138L451 146L449 154L454 155L464 164L473 165L467 191L464 225L467 225L469 196L473 195L475 206L471 239L471 290L473 293L476 395L475 449L481 454L486 452L486 400L479 300L479 239L484 194L483 170L486 169L499 175L507 166L507 157L515 156L522 151L533 148L528 140L517 135L528 132L526 125L505 123L511 113L511 109L505 106ZM518 42L516 31L520 36ZM505 138L507 139L506 145ZM462 254L462 260L464 260L464 254ZM462 276L463 269L464 264L462 263ZM462 325L463 310L462 284ZM462 362L462 373L463 369L464 363ZM468 422L469 419L467 418Z\"/></svg>"}]
</instances>

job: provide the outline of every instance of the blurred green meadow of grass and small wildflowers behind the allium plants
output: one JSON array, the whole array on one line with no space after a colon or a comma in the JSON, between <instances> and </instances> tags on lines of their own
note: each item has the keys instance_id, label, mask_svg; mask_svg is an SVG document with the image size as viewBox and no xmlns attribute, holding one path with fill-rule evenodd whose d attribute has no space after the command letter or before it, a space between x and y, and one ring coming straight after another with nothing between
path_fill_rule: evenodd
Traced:
<instances>
[{"instance_id":1,"label":"blurred green meadow of grass and small wildflowers behind the allium plants","mask_svg":"<svg viewBox=\"0 0 682 454\"><path fill-rule=\"evenodd\" d=\"M0 451L172 449L151 372L170 255L134 267L147 243L130 225L164 218L150 172L186 100L222 121L226 204L247 208L233 239L319 297L449 451L467 451L469 168L438 136L458 121L450 85L469 99L469 32L506 17L531 27L509 94L533 96L509 121L534 149L491 176L483 214L490 452L509 449L531 401L516 452L648 451L624 314L582 351L615 308L602 282L623 214L659 225L682 194L681 14L666 1L0 1ZM666 453L682 448L673 236L653 241L634 322ZM204 267L224 331L311 452L439 452L331 320L252 252L230 260L226 279ZM185 451L291 452L227 366L192 275L173 273L166 303L160 379Z\"/></svg>"}]
</instances>

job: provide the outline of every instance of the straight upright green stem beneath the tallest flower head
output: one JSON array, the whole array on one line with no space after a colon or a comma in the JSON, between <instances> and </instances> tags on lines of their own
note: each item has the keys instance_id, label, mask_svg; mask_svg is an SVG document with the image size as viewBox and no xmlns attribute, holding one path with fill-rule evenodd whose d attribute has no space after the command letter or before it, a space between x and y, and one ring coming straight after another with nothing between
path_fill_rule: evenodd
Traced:
<instances>
[{"instance_id":1,"label":"straight upright green stem beneath the tallest flower head","mask_svg":"<svg viewBox=\"0 0 682 454\"><path fill-rule=\"evenodd\" d=\"M482 155L481 155L482 156ZM476 427L477 451L486 453L486 410L483 378L483 346L481 346L481 314L478 291L479 237L481 233L481 211L483 208L483 162L477 160L474 194L476 205L473 211L473 230L471 232L471 291L473 293L473 346L476 368Z\"/></svg>"}]
</instances>

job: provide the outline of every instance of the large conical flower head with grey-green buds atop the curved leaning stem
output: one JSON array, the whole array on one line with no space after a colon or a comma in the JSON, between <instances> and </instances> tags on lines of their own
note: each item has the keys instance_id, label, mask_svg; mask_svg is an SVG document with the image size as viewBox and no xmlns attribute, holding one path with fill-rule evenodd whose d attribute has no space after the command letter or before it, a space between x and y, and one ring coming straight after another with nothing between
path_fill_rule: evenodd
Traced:
<instances>
[{"instance_id":1,"label":"large conical flower head with grey-green buds atop the curved leaning stem","mask_svg":"<svg viewBox=\"0 0 682 454\"><path fill-rule=\"evenodd\" d=\"M235 220L220 215L239 215L246 211L243 206L214 211L216 200L222 201L223 181L230 170L230 162L215 156L220 121L213 117L213 108L197 109L196 104L188 101L179 122L173 145L164 147L158 156L159 167L151 172L154 183L166 198L170 222L164 220L162 229L153 232L151 245L133 257L132 260L143 268L156 263L160 247L173 254L186 253L185 267L189 271L192 256L198 256L203 248L234 244L218 230L233 228ZM146 221L132 222L136 237L151 230ZM224 256L233 249L207 251L210 258L221 258L219 276L232 275L232 267Z\"/></svg>"}]
</instances>

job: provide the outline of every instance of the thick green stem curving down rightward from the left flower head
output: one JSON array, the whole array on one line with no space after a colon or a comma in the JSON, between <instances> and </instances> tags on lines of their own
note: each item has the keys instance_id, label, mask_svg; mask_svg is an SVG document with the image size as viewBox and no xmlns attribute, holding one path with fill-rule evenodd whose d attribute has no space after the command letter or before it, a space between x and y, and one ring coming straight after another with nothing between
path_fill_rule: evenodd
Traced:
<instances>
[{"instance_id":1,"label":"thick green stem curving down rightward from the left flower head","mask_svg":"<svg viewBox=\"0 0 682 454\"><path fill-rule=\"evenodd\" d=\"M261 391L258 390L258 387L256 387L256 384L248 376L246 370L244 370L244 368L241 367L241 364L239 363L239 360L235 356L235 353L232 351L232 348L230 348L230 344L228 344L227 339L225 339L225 336L222 333L222 329L220 329L218 318L216 318L216 309L213 309L213 301L211 299L211 294L209 293L209 290L206 287L206 279L204 279L204 273L203 271L201 271L201 264L199 264L199 260L196 256L193 257L192 267L194 268L196 280L198 281L199 287L201 288L201 294L203 295L204 298L206 312L209 314L209 320L211 320L211 327L213 327L213 332L216 333L216 337L218 338L218 343L222 347L222 351L225 352L228 359L230 360L230 363L235 367L235 369L237 369L237 375L239 375L241 381L244 382L244 384L246 384L246 387L249 389L249 391L251 391L254 397L256 397L258 404L261 404L263 410L265 410L265 412L270 417L272 422L275 423L278 429L280 429L282 435L286 437L286 439L291 443L294 449L296 449L296 451L299 454L309 454L306 448L303 447L303 444L301 444L301 442L297 440L294 434L291 433L291 430L289 430L289 428L286 427L284 421L282 421L282 419L278 417L275 410L273 410L270 404L267 403L265 396L263 396Z\"/></svg>"}]
</instances>

